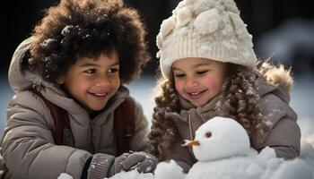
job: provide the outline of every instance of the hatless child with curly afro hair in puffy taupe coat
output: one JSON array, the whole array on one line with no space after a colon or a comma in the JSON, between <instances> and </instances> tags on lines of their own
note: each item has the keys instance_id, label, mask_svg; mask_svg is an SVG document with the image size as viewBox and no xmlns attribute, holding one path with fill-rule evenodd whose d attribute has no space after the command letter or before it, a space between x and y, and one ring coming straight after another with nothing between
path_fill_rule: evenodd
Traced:
<instances>
[{"instance_id":1,"label":"hatless child with curly afro hair in puffy taupe coat","mask_svg":"<svg viewBox=\"0 0 314 179\"><path fill-rule=\"evenodd\" d=\"M4 178L56 179L66 173L93 179L154 169L157 159L143 151L148 122L123 86L149 59L144 36L138 13L122 0L62 0L48 9L10 65L16 95L1 143ZM115 130L129 125L116 123L116 109L126 99L133 102L135 121L126 149L119 149ZM67 127L59 130L56 121L62 119L55 119L47 101L65 111Z\"/></svg>"}]
</instances>

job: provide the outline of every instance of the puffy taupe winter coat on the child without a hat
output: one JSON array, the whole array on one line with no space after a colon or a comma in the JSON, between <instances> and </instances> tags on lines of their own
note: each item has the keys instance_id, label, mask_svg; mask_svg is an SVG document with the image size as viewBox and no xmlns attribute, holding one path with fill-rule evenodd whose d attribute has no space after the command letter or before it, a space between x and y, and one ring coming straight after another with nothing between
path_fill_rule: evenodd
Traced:
<instances>
[{"instance_id":1,"label":"puffy taupe winter coat on the child without a hat","mask_svg":"<svg viewBox=\"0 0 314 179\"><path fill-rule=\"evenodd\" d=\"M13 55L9 82L16 95L7 108L7 124L2 141L2 155L8 173L5 178L57 179L61 173L81 178L85 161L96 155L100 165L108 170L117 155L113 126L113 111L128 96L121 87L109 100L105 110L93 119L73 98L66 97L57 86L42 81L39 76L21 68L22 58L31 39L22 42ZM71 132L65 132L65 145L54 144L54 121L48 107L28 89L32 84L42 85L40 90L58 107L64 108L70 118ZM135 134L129 143L132 150L144 149L147 143L148 123L142 107L136 103Z\"/></svg>"}]
</instances>

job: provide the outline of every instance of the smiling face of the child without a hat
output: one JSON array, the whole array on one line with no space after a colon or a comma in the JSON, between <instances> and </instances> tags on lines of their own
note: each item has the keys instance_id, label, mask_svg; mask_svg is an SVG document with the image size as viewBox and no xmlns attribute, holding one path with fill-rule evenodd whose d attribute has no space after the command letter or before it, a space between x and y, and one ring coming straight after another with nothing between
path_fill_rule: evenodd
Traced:
<instances>
[{"instance_id":1,"label":"smiling face of the child without a hat","mask_svg":"<svg viewBox=\"0 0 314 179\"><path fill-rule=\"evenodd\" d=\"M110 55L101 54L97 58L79 57L57 82L64 84L89 112L99 111L118 90L118 71L119 57L113 50Z\"/></svg>"}]
</instances>

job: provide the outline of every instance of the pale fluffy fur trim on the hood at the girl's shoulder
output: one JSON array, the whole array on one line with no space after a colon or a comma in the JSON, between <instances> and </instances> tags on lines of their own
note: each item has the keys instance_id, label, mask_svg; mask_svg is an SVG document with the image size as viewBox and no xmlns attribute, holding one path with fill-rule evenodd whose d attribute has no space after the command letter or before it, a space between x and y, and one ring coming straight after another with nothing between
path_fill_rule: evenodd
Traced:
<instances>
[{"instance_id":1,"label":"pale fluffy fur trim on the hood at the girl's shoulder","mask_svg":"<svg viewBox=\"0 0 314 179\"><path fill-rule=\"evenodd\" d=\"M261 72L266 81L273 85L283 85L285 86L289 92L292 91L293 87L293 79L292 79L292 69L289 68L288 70L284 69L283 64L279 64L275 66L274 64L270 64L269 62L264 62L259 72Z\"/></svg>"}]
</instances>

